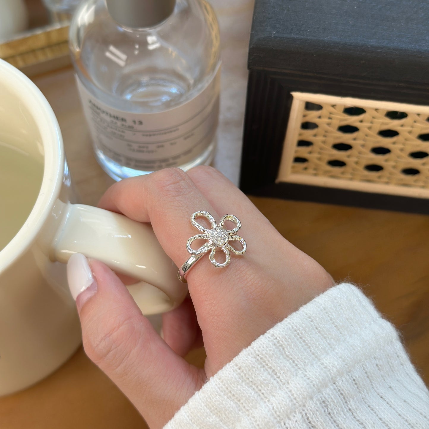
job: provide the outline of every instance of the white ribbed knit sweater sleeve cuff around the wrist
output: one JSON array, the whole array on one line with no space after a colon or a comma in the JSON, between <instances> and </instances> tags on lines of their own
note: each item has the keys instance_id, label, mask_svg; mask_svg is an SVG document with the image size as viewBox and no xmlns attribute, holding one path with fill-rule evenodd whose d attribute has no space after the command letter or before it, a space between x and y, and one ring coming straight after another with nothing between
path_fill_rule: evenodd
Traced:
<instances>
[{"instance_id":1,"label":"white ribbed knit sweater sleeve cuff around the wrist","mask_svg":"<svg viewBox=\"0 0 429 429\"><path fill-rule=\"evenodd\" d=\"M429 428L429 393L394 327L351 284L257 338L166 429Z\"/></svg>"}]
</instances>

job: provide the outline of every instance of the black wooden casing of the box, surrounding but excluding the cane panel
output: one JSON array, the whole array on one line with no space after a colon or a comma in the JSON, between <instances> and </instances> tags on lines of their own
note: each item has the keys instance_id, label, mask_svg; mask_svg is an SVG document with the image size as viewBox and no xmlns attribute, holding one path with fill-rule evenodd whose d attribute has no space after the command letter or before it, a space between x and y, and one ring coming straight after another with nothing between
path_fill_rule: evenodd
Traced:
<instances>
[{"instance_id":1,"label":"black wooden casing of the box, surrounding but excluding the cane panel","mask_svg":"<svg viewBox=\"0 0 429 429\"><path fill-rule=\"evenodd\" d=\"M255 0L242 190L429 214L424 198L276 183L291 93L429 105L428 13L420 0Z\"/></svg>"}]
</instances>

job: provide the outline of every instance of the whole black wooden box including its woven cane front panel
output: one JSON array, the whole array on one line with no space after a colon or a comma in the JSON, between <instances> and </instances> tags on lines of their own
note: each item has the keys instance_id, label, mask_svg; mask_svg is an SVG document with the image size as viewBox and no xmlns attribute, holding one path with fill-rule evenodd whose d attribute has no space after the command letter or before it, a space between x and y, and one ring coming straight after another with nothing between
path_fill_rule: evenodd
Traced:
<instances>
[{"instance_id":1,"label":"whole black wooden box including its woven cane front panel","mask_svg":"<svg viewBox=\"0 0 429 429\"><path fill-rule=\"evenodd\" d=\"M429 213L429 7L256 0L240 186Z\"/></svg>"}]
</instances>

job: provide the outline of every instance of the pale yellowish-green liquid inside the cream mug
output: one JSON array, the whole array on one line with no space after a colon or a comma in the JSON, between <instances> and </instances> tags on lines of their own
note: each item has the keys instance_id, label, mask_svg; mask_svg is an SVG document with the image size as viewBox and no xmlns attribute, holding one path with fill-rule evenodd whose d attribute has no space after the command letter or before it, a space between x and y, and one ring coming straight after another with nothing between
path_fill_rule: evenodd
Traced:
<instances>
[{"instance_id":1,"label":"pale yellowish-green liquid inside the cream mug","mask_svg":"<svg viewBox=\"0 0 429 429\"><path fill-rule=\"evenodd\" d=\"M43 160L0 142L0 251L30 215L43 179Z\"/></svg>"}]
</instances>

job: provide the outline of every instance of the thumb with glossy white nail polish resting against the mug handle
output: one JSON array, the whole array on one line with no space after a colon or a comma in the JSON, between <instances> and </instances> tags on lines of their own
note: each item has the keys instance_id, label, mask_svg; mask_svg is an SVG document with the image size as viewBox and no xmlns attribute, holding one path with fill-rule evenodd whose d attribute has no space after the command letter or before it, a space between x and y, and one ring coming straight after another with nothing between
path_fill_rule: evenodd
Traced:
<instances>
[{"instance_id":1,"label":"thumb with glossy white nail polish resting against the mug handle","mask_svg":"<svg viewBox=\"0 0 429 429\"><path fill-rule=\"evenodd\" d=\"M175 354L144 317L118 276L74 254L67 278L88 357L125 393L151 428L165 425L198 390L203 370Z\"/></svg>"}]
</instances>

